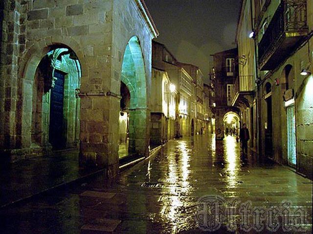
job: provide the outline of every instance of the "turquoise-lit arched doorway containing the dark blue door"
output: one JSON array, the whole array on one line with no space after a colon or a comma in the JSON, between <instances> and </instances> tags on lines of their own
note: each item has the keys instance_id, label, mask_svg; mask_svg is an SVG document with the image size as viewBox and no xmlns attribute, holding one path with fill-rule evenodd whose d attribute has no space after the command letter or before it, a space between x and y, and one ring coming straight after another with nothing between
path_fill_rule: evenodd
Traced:
<instances>
[{"instance_id":1,"label":"turquoise-lit arched doorway containing the dark blue door","mask_svg":"<svg viewBox=\"0 0 313 234\"><path fill-rule=\"evenodd\" d=\"M32 80L31 148L77 148L81 66L66 46L51 46Z\"/></svg>"}]
</instances>

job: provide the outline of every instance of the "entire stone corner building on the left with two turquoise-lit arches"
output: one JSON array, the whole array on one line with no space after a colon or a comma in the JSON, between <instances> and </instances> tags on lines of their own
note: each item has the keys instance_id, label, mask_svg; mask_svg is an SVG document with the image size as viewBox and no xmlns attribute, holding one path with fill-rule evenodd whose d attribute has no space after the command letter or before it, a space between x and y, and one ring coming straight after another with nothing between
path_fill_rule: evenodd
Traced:
<instances>
[{"instance_id":1,"label":"entire stone corner building on the left with two turquoise-lit arches","mask_svg":"<svg viewBox=\"0 0 313 234\"><path fill-rule=\"evenodd\" d=\"M128 151L148 154L158 33L142 0L4 0L0 12L1 160L79 145L82 167L116 175L121 83Z\"/></svg>"}]
</instances>

